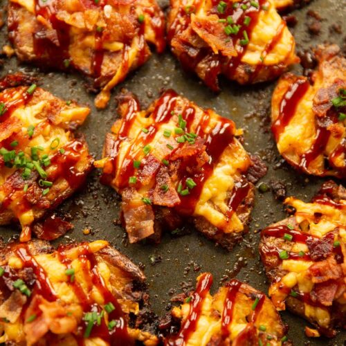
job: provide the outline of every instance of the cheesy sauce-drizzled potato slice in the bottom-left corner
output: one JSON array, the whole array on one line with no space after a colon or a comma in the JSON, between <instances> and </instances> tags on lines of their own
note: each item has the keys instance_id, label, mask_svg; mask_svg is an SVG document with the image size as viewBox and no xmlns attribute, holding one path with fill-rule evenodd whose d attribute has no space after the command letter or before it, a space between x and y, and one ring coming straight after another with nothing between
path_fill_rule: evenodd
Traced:
<instances>
[{"instance_id":1,"label":"cheesy sauce-drizzled potato slice in the bottom-left corner","mask_svg":"<svg viewBox=\"0 0 346 346\"><path fill-rule=\"evenodd\" d=\"M149 331L138 329L137 317L148 304L145 276L108 242L57 251L36 240L2 244L0 259L1 343L157 344Z\"/></svg>"}]
</instances>

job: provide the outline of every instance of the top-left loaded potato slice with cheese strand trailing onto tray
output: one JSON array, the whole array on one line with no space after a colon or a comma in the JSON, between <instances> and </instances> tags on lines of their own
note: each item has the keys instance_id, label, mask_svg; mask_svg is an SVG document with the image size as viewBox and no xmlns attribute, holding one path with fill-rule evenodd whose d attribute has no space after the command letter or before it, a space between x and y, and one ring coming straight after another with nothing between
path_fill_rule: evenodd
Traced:
<instances>
[{"instance_id":1,"label":"top-left loaded potato slice with cheese strand trailing onto tray","mask_svg":"<svg viewBox=\"0 0 346 346\"><path fill-rule=\"evenodd\" d=\"M165 48L155 0L10 0L8 30L20 60L90 77L101 90L100 108L113 86L147 61L148 44Z\"/></svg>"}]
</instances>

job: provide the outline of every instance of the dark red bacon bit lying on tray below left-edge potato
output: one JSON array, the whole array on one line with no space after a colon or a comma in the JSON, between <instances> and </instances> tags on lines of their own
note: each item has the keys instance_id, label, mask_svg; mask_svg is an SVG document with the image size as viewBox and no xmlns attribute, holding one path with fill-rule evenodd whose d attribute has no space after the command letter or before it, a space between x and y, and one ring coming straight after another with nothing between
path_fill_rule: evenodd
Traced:
<instances>
[{"instance_id":1,"label":"dark red bacon bit lying on tray below left-edge potato","mask_svg":"<svg viewBox=\"0 0 346 346\"><path fill-rule=\"evenodd\" d=\"M61 237L72 228L73 224L53 214L44 221L37 222L33 226L33 233L35 233L36 237L39 239L53 240Z\"/></svg>"}]
</instances>

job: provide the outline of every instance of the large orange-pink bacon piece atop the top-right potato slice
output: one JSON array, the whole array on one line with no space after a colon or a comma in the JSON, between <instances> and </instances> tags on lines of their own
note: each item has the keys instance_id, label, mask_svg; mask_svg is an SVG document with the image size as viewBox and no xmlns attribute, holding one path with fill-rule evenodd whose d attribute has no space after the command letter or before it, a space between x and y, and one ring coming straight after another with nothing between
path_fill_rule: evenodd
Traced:
<instances>
[{"instance_id":1,"label":"large orange-pink bacon piece atop the top-right potato slice","mask_svg":"<svg viewBox=\"0 0 346 346\"><path fill-rule=\"evenodd\" d=\"M194 32L212 48L215 54L237 56L233 41L226 35L225 26L219 22L217 15L205 17L191 15L191 26Z\"/></svg>"}]
</instances>

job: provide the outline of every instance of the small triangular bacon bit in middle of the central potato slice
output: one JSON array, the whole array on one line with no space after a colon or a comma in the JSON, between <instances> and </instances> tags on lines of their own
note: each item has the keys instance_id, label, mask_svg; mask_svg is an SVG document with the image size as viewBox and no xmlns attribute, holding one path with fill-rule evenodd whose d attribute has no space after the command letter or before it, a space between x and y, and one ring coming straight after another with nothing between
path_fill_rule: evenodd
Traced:
<instances>
[{"instance_id":1,"label":"small triangular bacon bit in middle of the central potato slice","mask_svg":"<svg viewBox=\"0 0 346 346\"><path fill-rule=\"evenodd\" d=\"M162 186L167 185L168 190L164 192ZM156 175L156 185L153 192L153 203L157 206L174 207L180 203L179 195L174 188L167 167L161 167Z\"/></svg>"}]
</instances>

